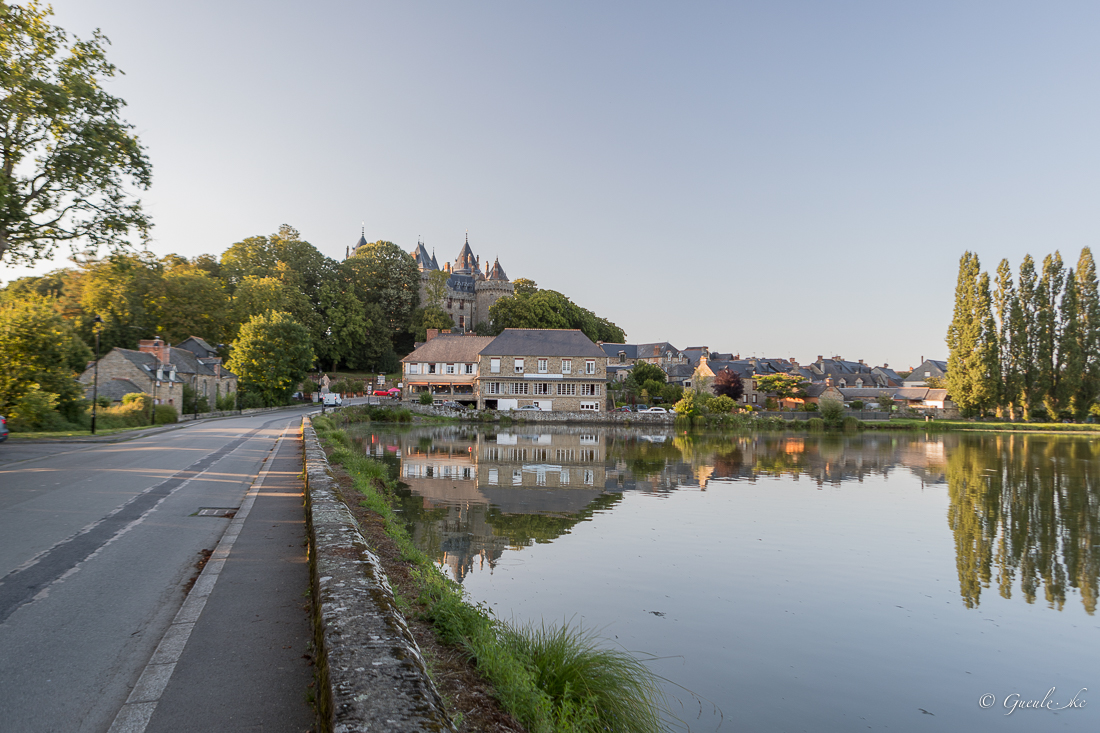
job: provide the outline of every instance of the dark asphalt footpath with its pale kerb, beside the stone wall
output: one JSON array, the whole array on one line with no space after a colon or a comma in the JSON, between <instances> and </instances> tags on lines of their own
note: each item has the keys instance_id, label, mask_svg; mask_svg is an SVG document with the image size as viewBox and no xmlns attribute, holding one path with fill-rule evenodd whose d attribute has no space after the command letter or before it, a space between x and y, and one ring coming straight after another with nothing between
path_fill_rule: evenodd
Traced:
<instances>
[{"instance_id":1,"label":"dark asphalt footpath with its pale kerb, beside the stone wall","mask_svg":"<svg viewBox=\"0 0 1100 733\"><path fill-rule=\"evenodd\" d=\"M111 733L310 731L301 438L284 433Z\"/></svg>"}]
</instances>

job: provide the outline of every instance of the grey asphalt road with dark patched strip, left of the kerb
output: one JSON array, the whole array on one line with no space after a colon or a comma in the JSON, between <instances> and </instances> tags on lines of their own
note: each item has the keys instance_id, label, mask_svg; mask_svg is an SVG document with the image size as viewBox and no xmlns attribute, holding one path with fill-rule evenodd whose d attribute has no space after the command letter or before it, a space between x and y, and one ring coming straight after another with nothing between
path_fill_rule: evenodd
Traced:
<instances>
[{"instance_id":1,"label":"grey asphalt road with dark patched strip, left of the kerb","mask_svg":"<svg viewBox=\"0 0 1100 733\"><path fill-rule=\"evenodd\" d=\"M110 727L229 526L197 513L241 506L311 409L0 445L0 730Z\"/></svg>"}]
</instances>

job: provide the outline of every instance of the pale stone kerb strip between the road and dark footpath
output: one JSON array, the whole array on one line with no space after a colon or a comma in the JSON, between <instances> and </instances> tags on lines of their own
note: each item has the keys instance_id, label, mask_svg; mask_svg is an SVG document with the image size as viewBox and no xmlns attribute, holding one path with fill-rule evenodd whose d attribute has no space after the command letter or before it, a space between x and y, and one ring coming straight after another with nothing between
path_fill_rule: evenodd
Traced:
<instances>
[{"instance_id":1,"label":"pale stone kerb strip between the road and dark footpath","mask_svg":"<svg viewBox=\"0 0 1100 733\"><path fill-rule=\"evenodd\" d=\"M198 621L199 614L202 613L202 609L206 608L210 593L213 592L215 583L218 582L221 569L226 566L226 560L233 549L233 544L240 536L241 529L244 528L244 521L249 518L249 512L252 511L252 505L256 501L256 494L264 485L272 459L278 453L279 446L286 439L289 429L290 425L283 428L282 435L275 441L267 458L264 459L264 467L256 475L249 493L245 494L241 508L230 519L221 541L218 543L210 559L207 560L206 567L202 568L198 580L195 581L195 586L187 593L183 606L161 638L161 643L138 679L138 683L131 690L130 697L127 698L122 709L114 716L114 722L111 723L108 733L144 733L148 726L153 719L153 712L161 701L161 696L164 694L164 690L167 689L168 681L172 679L172 674L176 670L176 663L179 661L179 657L187 646L195 623Z\"/></svg>"}]
</instances>

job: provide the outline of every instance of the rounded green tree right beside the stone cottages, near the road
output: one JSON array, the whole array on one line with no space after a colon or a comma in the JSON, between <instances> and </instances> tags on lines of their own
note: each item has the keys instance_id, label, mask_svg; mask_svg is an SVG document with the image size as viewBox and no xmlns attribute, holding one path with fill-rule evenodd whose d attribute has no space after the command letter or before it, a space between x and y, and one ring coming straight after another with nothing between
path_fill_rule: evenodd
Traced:
<instances>
[{"instance_id":1,"label":"rounded green tree right beside the stone cottages, near the road","mask_svg":"<svg viewBox=\"0 0 1100 733\"><path fill-rule=\"evenodd\" d=\"M282 405L312 363L309 331L290 314L272 311L253 316L241 327L226 366L238 375L246 394L265 405Z\"/></svg>"}]
</instances>

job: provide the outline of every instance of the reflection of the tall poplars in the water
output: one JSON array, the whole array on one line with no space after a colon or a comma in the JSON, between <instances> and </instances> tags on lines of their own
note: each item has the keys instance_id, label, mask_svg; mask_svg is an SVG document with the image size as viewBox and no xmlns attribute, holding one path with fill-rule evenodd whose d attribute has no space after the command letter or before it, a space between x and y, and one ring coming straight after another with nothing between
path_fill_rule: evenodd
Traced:
<instances>
[{"instance_id":1,"label":"reflection of the tall poplars in the water","mask_svg":"<svg viewBox=\"0 0 1100 733\"><path fill-rule=\"evenodd\" d=\"M1096 611L1100 477L1090 441L1055 436L965 436L947 458L959 590L979 603L993 573L1003 598L1015 579L1028 603L1042 589L1062 609L1076 588Z\"/></svg>"}]
</instances>

